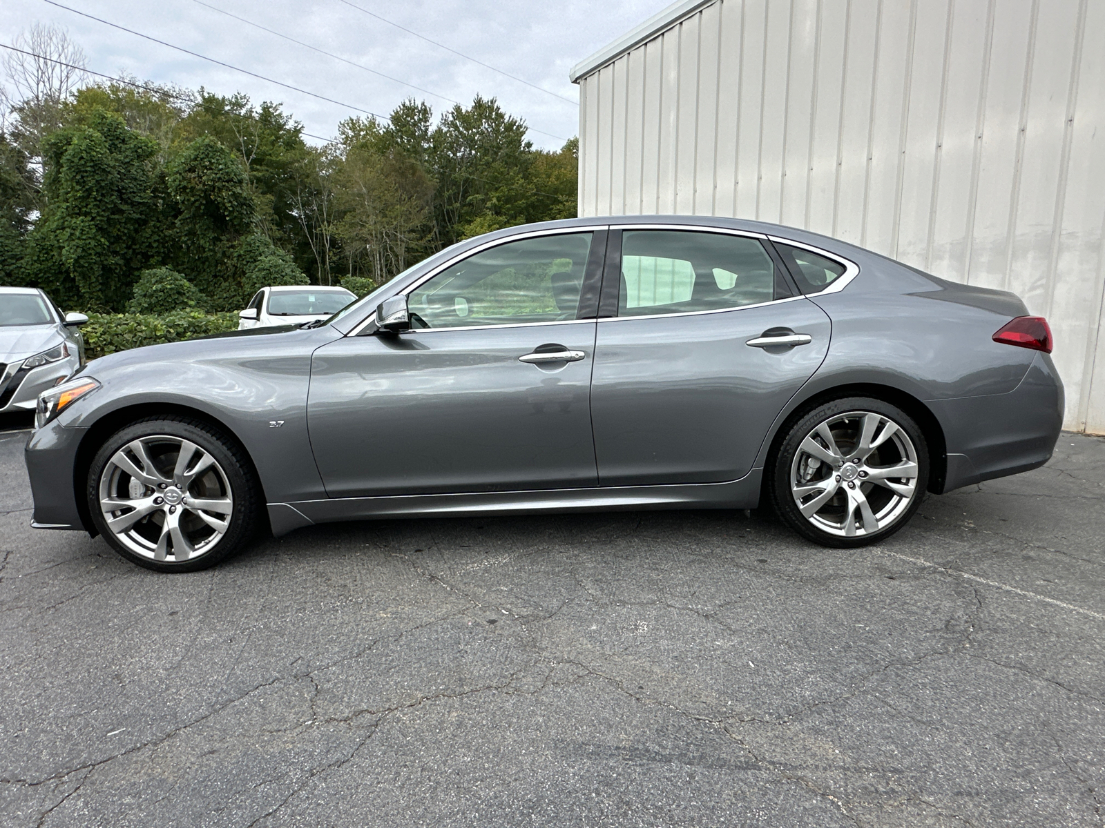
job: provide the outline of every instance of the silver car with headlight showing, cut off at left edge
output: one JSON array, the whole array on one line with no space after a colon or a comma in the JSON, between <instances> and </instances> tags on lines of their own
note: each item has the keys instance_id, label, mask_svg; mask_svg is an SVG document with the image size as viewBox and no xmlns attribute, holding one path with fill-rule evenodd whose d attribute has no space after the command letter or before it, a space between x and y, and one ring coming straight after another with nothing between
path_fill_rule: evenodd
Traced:
<instances>
[{"instance_id":1,"label":"silver car with headlight showing, cut off at left edge","mask_svg":"<svg viewBox=\"0 0 1105 828\"><path fill-rule=\"evenodd\" d=\"M63 315L36 287L0 287L0 413L34 411L41 392L84 364L87 321Z\"/></svg>"}]
</instances>

